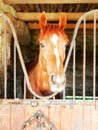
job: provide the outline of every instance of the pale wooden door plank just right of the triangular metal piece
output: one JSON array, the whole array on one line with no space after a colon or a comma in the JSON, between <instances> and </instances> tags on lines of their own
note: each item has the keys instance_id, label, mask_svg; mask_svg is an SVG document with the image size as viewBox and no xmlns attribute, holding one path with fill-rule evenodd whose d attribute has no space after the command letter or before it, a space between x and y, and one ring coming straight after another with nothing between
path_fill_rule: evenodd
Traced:
<instances>
[{"instance_id":1,"label":"pale wooden door plank just right of the triangular metal piece","mask_svg":"<svg viewBox=\"0 0 98 130\"><path fill-rule=\"evenodd\" d=\"M69 105L61 106L61 129L72 130L72 110Z\"/></svg>"}]
</instances>

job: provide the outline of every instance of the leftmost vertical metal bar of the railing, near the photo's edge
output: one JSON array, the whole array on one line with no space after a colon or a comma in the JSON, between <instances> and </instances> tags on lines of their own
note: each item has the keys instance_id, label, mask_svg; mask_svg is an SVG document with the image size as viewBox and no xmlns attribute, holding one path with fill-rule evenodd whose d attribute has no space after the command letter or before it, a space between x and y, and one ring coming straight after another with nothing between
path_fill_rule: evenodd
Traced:
<instances>
[{"instance_id":1,"label":"leftmost vertical metal bar of the railing, near the photo's edge","mask_svg":"<svg viewBox=\"0 0 98 130\"><path fill-rule=\"evenodd\" d=\"M4 98L7 98L7 44L6 44L6 19L4 18Z\"/></svg>"}]
</instances>

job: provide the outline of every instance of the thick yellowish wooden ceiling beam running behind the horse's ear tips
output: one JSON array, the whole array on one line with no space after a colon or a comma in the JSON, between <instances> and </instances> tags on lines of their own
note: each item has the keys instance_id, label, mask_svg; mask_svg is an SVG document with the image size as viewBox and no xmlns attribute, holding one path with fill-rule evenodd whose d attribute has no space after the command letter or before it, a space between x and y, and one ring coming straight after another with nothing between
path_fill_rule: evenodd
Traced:
<instances>
[{"instance_id":1,"label":"thick yellowish wooden ceiling beam running behind the horse's ear tips","mask_svg":"<svg viewBox=\"0 0 98 130\"><path fill-rule=\"evenodd\" d=\"M84 12L85 13L85 12ZM84 13L64 13L67 21L77 21ZM39 21L42 13L17 13L17 18L23 21ZM61 13L46 13L48 21L58 21ZM98 14L96 15L98 20ZM89 15L87 20L93 20L93 15Z\"/></svg>"}]
</instances>

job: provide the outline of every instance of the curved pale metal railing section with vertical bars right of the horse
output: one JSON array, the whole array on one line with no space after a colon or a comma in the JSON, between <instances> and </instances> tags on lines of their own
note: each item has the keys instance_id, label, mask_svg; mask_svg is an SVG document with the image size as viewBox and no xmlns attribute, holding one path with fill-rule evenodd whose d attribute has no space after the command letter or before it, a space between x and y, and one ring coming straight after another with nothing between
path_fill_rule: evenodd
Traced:
<instances>
[{"instance_id":1,"label":"curved pale metal railing section with vertical bars right of the horse","mask_svg":"<svg viewBox=\"0 0 98 130\"><path fill-rule=\"evenodd\" d=\"M78 29L80 24L83 22L84 23L84 28L83 28L83 100L85 100L85 83L86 83L86 18L89 16L93 16L93 23L94 23L94 27L93 27L93 100L95 101L95 99L97 98L95 95L96 92L96 15L98 13L98 9L96 10L92 10L89 11L87 13L85 13L83 16L80 17L80 19L78 20L75 29L74 29L74 34L72 37L72 41L71 41L71 46L69 49L69 53L67 55L67 59L65 62L65 66L64 66L64 70L66 73L67 67L68 67L68 63L73 51L73 99L75 99L75 69L76 69L76 37L77 37L77 33L78 33Z\"/></svg>"}]
</instances>

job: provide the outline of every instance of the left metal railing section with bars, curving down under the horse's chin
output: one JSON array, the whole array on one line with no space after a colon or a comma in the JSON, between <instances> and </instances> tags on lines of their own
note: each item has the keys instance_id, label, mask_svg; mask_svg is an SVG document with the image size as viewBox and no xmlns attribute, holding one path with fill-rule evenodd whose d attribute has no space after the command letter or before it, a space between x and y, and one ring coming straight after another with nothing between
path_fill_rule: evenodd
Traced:
<instances>
[{"instance_id":1,"label":"left metal railing section with bars, curving down under the horse's chin","mask_svg":"<svg viewBox=\"0 0 98 130\"><path fill-rule=\"evenodd\" d=\"M18 56L19 56L19 60L20 60L20 63L21 63L21 66L22 66L22 70L23 70L23 74L24 74L24 99L26 98L26 85L28 86L28 89L29 91L37 98L52 98L54 97L57 93L53 93L52 95L50 96L39 96L37 95L33 90L32 90L32 87L31 87L31 84L30 84L30 81L29 81L29 78L28 78L28 74L27 74L27 70L26 70L26 67L25 67L25 63L24 63L24 59L23 59L23 56L22 56L22 53L21 53L21 49L20 49L20 46L19 46L19 42L18 42L18 39L17 39L17 35L16 35L16 31L15 31L15 28L13 26L13 23L10 21L10 19L4 15L4 14L0 14L0 18L2 18L2 21L3 21L3 30L2 32L4 33L4 37L3 37L3 40L4 40L4 57L3 57L3 60L4 60L4 99L7 99L7 30L6 30L6 25L8 24L10 29L11 29L11 33L12 33L12 36L13 36L13 39L14 39L14 99L17 98L16 96L16 77L17 77L17 65L16 65L16 53L18 53Z\"/></svg>"}]
</instances>

